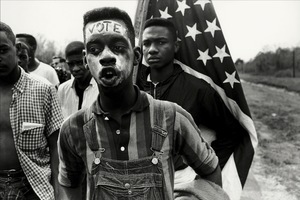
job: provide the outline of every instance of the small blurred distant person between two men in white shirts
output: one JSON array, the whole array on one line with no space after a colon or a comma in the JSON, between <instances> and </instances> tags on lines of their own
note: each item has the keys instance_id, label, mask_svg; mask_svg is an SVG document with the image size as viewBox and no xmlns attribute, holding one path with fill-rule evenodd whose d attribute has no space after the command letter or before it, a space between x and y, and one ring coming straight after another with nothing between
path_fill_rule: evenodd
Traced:
<instances>
[{"instance_id":1,"label":"small blurred distant person between two men in white shirts","mask_svg":"<svg viewBox=\"0 0 300 200\"><path fill-rule=\"evenodd\" d=\"M64 59L63 57L53 56L51 66L55 69L60 84L71 78L71 72L66 63L66 59Z\"/></svg>"}]
</instances>

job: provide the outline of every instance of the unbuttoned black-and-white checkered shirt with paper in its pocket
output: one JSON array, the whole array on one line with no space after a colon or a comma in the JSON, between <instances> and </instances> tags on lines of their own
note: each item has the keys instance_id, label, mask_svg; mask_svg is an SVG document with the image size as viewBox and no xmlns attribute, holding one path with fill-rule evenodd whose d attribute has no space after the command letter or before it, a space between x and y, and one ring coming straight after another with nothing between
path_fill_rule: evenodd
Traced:
<instances>
[{"instance_id":1,"label":"unbuttoned black-and-white checkered shirt with paper in its pocket","mask_svg":"<svg viewBox=\"0 0 300 200\"><path fill-rule=\"evenodd\" d=\"M56 89L21 69L12 92L9 112L21 167L40 199L54 199L47 138L63 120Z\"/></svg>"}]
</instances>

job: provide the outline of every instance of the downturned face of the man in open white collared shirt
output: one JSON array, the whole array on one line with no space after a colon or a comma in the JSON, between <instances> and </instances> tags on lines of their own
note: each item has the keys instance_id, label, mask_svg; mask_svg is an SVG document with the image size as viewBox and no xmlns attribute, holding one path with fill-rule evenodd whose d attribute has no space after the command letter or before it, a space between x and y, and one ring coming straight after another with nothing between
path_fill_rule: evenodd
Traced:
<instances>
[{"instance_id":1,"label":"downturned face of the man in open white collared shirt","mask_svg":"<svg viewBox=\"0 0 300 200\"><path fill-rule=\"evenodd\" d=\"M79 81L84 81L90 74L90 71L84 67L82 54L68 56L67 64L71 74Z\"/></svg>"}]
</instances>

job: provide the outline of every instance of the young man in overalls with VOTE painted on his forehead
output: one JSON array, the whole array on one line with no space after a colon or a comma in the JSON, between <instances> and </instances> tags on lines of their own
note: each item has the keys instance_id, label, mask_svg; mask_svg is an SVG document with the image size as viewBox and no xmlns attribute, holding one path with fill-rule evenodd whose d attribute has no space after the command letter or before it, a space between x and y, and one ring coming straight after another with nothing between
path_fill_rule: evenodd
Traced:
<instances>
[{"instance_id":1,"label":"young man in overalls with VOTE painted on his forehead","mask_svg":"<svg viewBox=\"0 0 300 200\"><path fill-rule=\"evenodd\" d=\"M218 158L190 114L133 85L140 58L128 14L99 8L84 15L85 61L98 99L68 118L60 131L63 199L174 199L175 154L203 178L221 185Z\"/></svg>"}]
</instances>

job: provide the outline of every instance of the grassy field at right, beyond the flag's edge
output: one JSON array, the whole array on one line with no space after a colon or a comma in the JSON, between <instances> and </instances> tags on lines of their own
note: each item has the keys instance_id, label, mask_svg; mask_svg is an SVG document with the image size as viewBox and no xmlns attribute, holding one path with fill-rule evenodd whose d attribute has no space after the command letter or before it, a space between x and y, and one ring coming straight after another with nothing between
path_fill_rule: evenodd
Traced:
<instances>
[{"instance_id":1,"label":"grassy field at right, beyond the flag's edge","mask_svg":"<svg viewBox=\"0 0 300 200\"><path fill-rule=\"evenodd\" d=\"M268 188L269 193L278 196L280 190L276 191L276 184L274 189L271 188L273 185L268 185L274 179L284 185L289 194L300 199L300 78L249 74L240 74L240 78L248 82L243 86L259 140L257 155L262 167L256 173L268 181L261 184L262 190ZM294 93L264 85L285 88Z\"/></svg>"}]
</instances>

